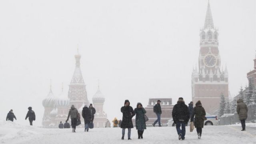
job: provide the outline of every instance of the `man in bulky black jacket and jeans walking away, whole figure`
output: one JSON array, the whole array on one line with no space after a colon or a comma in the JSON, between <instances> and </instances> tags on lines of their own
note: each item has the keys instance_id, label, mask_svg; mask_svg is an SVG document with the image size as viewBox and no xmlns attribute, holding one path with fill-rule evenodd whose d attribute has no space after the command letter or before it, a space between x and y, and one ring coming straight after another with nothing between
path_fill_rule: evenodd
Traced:
<instances>
[{"instance_id":1,"label":"man in bulky black jacket and jeans walking away, whole figure","mask_svg":"<svg viewBox=\"0 0 256 144\"><path fill-rule=\"evenodd\" d=\"M189 120L189 110L183 98L179 98L177 104L174 105L172 109L172 118L174 123L176 124L176 130L179 135L179 140L184 140L186 134L185 127ZM181 130L180 126L182 128Z\"/></svg>"}]
</instances>

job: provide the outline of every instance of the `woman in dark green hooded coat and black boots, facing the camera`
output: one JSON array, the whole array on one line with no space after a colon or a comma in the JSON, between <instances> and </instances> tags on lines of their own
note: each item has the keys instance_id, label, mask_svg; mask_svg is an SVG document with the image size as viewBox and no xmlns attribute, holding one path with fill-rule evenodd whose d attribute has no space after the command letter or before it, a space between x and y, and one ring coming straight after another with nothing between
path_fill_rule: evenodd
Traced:
<instances>
[{"instance_id":1,"label":"woman in dark green hooded coat and black boots, facing the camera","mask_svg":"<svg viewBox=\"0 0 256 144\"><path fill-rule=\"evenodd\" d=\"M146 129L146 122L144 119L144 114L146 114L145 108L142 107L142 104L138 102L137 108L134 109L134 112L136 114L135 118L135 124L136 124L136 129L138 130L138 139L142 138L143 139L143 132Z\"/></svg>"}]
</instances>

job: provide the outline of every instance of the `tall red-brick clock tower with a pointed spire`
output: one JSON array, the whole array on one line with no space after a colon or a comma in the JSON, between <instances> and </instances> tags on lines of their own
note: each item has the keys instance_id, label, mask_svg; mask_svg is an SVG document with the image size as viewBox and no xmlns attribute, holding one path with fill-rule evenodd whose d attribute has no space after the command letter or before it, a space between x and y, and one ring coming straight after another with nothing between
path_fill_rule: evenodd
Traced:
<instances>
[{"instance_id":1,"label":"tall red-brick clock tower with a pointed spire","mask_svg":"<svg viewBox=\"0 0 256 144\"><path fill-rule=\"evenodd\" d=\"M218 35L208 2L204 27L200 30L198 69L192 72L192 101L201 100L210 114L218 112L221 94L228 98L228 70L221 70Z\"/></svg>"}]
</instances>

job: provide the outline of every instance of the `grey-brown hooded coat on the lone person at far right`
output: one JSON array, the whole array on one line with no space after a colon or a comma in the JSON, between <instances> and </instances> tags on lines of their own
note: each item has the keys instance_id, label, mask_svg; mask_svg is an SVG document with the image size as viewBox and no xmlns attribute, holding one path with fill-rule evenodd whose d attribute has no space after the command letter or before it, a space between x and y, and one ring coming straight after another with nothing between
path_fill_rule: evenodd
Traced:
<instances>
[{"instance_id":1,"label":"grey-brown hooded coat on the lone person at far right","mask_svg":"<svg viewBox=\"0 0 256 144\"><path fill-rule=\"evenodd\" d=\"M247 119L248 108L241 98L237 100L236 112L239 116L239 120Z\"/></svg>"}]
</instances>

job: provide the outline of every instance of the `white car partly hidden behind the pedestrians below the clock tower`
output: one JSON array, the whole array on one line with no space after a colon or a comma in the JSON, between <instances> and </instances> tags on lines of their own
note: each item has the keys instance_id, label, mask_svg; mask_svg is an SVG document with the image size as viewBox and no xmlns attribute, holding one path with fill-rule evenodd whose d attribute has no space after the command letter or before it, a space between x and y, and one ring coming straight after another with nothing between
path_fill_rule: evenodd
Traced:
<instances>
[{"instance_id":1,"label":"white car partly hidden behind the pedestrians below the clock tower","mask_svg":"<svg viewBox=\"0 0 256 144\"><path fill-rule=\"evenodd\" d=\"M205 126L213 126L213 125L216 126L216 125L219 125L218 116L214 116L214 115L208 114L206 112L206 116L205 117L207 118L207 120L204 121L204 125ZM190 123L190 121L188 123ZM173 121L172 118L167 121L167 126L176 126L176 124L174 124L174 121Z\"/></svg>"}]
</instances>

